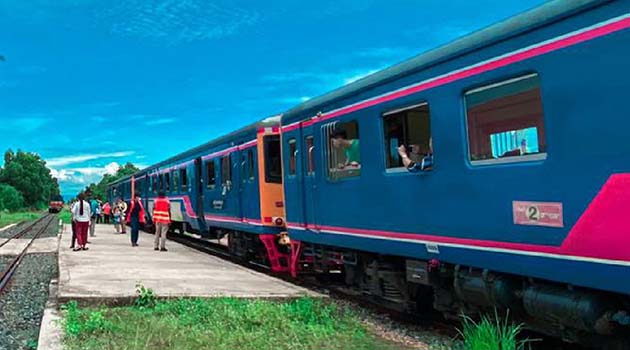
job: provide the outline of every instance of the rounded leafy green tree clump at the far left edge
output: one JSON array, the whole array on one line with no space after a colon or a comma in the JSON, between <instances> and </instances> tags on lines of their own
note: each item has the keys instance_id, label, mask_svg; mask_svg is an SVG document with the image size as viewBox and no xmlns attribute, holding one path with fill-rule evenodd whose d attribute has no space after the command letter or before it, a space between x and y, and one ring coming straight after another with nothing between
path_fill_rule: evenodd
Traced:
<instances>
[{"instance_id":1,"label":"rounded leafy green tree clump at the far left edge","mask_svg":"<svg viewBox=\"0 0 630 350\"><path fill-rule=\"evenodd\" d=\"M59 184L38 154L8 150L4 161L4 168L0 169L0 183L18 190L24 198L24 205L44 208L50 198L59 195Z\"/></svg>"}]
</instances>

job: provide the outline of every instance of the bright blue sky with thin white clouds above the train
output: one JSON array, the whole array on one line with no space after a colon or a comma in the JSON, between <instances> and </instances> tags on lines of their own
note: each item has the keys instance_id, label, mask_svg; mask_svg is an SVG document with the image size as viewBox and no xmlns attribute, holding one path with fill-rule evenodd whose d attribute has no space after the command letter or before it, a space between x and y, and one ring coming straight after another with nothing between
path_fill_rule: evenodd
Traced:
<instances>
[{"instance_id":1,"label":"bright blue sky with thin white clouds above the train","mask_svg":"<svg viewBox=\"0 0 630 350\"><path fill-rule=\"evenodd\" d=\"M0 150L74 194L543 2L0 0Z\"/></svg>"}]
</instances>

